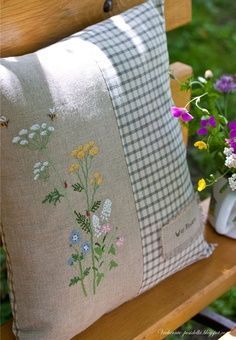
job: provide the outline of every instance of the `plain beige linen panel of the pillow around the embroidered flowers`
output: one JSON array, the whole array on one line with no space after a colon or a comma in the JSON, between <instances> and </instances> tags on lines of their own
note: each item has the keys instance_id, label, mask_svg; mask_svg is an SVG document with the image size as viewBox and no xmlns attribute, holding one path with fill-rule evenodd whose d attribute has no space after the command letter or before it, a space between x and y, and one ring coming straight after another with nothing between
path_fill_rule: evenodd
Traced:
<instances>
[{"instance_id":1,"label":"plain beige linen panel of the pillow around the embroidered flowers","mask_svg":"<svg viewBox=\"0 0 236 340\"><path fill-rule=\"evenodd\" d=\"M97 65L88 58L88 45L77 41L73 50L62 50L57 44L17 61L3 60L1 66L8 81L2 105L9 119L8 128L1 130L2 223L12 260L15 332L20 339L69 339L136 296L142 282L139 223L127 166L109 94ZM53 107L57 118L51 122ZM82 193L71 190L76 179L67 172L73 162L70 152L90 140L100 149L93 161L94 171L104 178L97 196L112 201L111 225L124 244L118 249L118 267L105 273L96 295L91 287L88 297L79 284L69 287L75 273L67 265L68 238L76 221L66 200L56 206L42 204L59 185L50 184L51 178L56 181L53 169L48 181L33 179L33 165L47 161L47 155L12 143L21 129L44 122L55 128L47 154L68 185L72 209L83 211L86 202Z\"/></svg>"}]
</instances>

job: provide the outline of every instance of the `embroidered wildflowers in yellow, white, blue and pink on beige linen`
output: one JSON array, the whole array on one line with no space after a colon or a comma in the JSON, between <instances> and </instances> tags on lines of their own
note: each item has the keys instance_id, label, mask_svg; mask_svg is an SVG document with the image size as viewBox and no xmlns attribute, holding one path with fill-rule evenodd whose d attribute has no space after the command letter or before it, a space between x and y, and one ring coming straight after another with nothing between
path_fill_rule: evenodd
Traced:
<instances>
[{"instance_id":1,"label":"embroidered wildflowers in yellow, white, blue and pink on beige linen","mask_svg":"<svg viewBox=\"0 0 236 340\"><path fill-rule=\"evenodd\" d=\"M75 276L70 279L69 287L79 284L86 297L90 289L95 294L106 275L118 267L118 248L124 244L124 238L117 237L118 228L112 228L109 221L112 201L107 198L102 203L96 198L98 190L104 183L100 172L95 171L91 174L93 160L100 152L99 147L94 141L89 141L71 151L70 155L74 158L74 162L69 165L68 172L76 177L76 183L70 186L61 177L56 164L47 153L47 144L53 132L53 126L47 123L36 123L30 128L21 129L12 139L12 143L37 150L38 153L47 156L48 160L40 160L33 165L33 179L34 181L47 180L49 169L52 168L59 188L49 192L43 199L43 204L56 207L63 198L71 212L73 209L69 201L69 188L78 195L84 195L84 202L86 202L84 209L73 211L77 228L74 228L68 236L72 254L67 259L67 264L75 270Z\"/></svg>"}]
</instances>

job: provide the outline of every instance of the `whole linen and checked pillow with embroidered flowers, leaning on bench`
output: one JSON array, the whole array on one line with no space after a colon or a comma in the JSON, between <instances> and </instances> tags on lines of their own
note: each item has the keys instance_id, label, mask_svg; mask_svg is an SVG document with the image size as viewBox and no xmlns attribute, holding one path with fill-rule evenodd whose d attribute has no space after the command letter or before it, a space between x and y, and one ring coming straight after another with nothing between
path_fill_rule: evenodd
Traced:
<instances>
[{"instance_id":1,"label":"whole linen and checked pillow with embroidered flowers, leaning on bench","mask_svg":"<svg viewBox=\"0 0 236 340\"><path fill-rule=\"evenodd\" d=\"M14 332L69 339L212 253L170 114L151 2L1 60L2 233Z\"/></svg>"}]
</instances>

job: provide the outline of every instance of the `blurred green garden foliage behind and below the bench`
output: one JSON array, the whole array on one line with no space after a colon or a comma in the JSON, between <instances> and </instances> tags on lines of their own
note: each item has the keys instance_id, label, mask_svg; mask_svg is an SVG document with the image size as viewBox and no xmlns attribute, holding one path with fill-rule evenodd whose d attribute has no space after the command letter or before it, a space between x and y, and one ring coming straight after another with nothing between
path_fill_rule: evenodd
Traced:
<instances>
[{"instance_id":1,"label":"blurred green garden foliage behind and below the bench","mask_svg":"<svg viewBox=\"0 0 236 340\"><path fill-rule=\"evenodd\" d=\"M181 61L192 65L196 76L203 76L211 69L216 76L236 73L236 1L193 0L193 21L191 24L167 34L170 61ZM231 103L231 107L236 107ZM236 116L236 112L235 112ZM207 160L200 160L198 153L188 148L188 159L193 181L209 169ZM232 254L235 256L235 254ZM8 298L5 254L0 248L0 323L11 317ZM215 301L211 308L236 321L236 288ZM194 322L185 329L196 329ZM172 336L169 337L171 339ZM176 339L176 337L175 337ZM192 339L192 338L191 338Z\"/></svg>"}]
</instances>

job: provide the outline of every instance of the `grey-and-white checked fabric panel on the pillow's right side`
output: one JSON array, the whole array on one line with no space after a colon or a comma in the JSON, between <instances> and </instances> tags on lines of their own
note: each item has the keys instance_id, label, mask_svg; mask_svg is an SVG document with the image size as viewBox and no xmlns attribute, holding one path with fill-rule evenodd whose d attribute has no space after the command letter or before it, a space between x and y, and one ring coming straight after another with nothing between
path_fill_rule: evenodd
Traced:
<instances>
[{"instance_id":1,"label":"grey-and-white checked fabric panel on the pillow's right side","mask_svg":"<svg viewBox=\"0 0 236 340\"><path fill-rule=\"evenodd\" d=\"M140 222L140 292L211 253L201 235L177 256L162 257L161 229L194 193L179 123L170 114L169 61L159 6L158 12L151 2L144 3L78 34L100 49L97 63L117 118Z\"/></svg>"}]
</instances>

